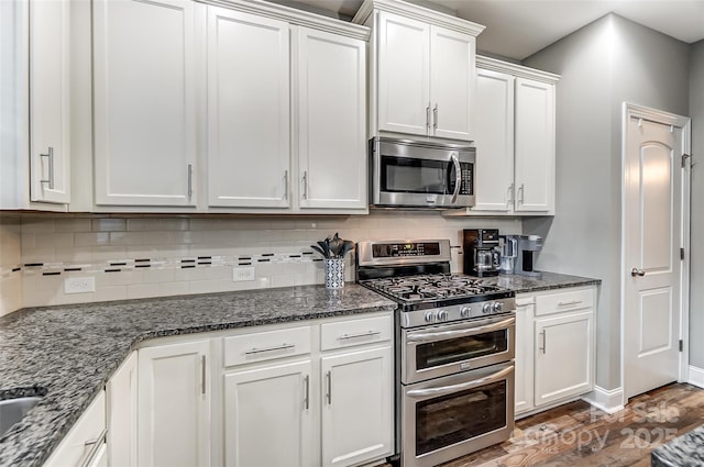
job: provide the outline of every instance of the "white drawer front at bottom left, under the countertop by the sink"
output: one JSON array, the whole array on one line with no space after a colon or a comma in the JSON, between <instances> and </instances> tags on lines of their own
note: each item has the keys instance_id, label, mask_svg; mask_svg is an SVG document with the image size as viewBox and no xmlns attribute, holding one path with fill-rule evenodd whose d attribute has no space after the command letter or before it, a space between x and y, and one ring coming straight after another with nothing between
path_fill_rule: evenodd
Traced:
<instances>
[{"instance_id":1,"label":"white drawer front at bottom left, under the countertop by the sink","mask_svg":"<svg viewBox=\"0 0 704 467\"><path fill-rule=\"evenodd\" d=\"M106 391L100 391L88 409L80 415L64 441L58 445L44 467L69 467L84 465L87 456L98 457L106 437ZM96 449L94 449L96 448Z\"/></svg>"}]
</instances>

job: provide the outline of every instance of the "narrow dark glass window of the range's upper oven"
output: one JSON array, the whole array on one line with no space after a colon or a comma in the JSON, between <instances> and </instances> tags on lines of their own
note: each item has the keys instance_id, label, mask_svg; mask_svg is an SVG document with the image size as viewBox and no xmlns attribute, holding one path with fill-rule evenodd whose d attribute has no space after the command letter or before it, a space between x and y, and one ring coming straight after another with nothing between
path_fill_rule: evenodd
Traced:
<instances>
[{"instance_id":1,"label":"narrow dark glass window of the range's upper oven","mask_svg":"<svg viewBox=\"0 0 704 467\"><path fill-rule=\"evenodd\" d=\"M449 338L416 347L416 369L427 369L508 351L508 331Z\"/></svg>"}]
</instances>

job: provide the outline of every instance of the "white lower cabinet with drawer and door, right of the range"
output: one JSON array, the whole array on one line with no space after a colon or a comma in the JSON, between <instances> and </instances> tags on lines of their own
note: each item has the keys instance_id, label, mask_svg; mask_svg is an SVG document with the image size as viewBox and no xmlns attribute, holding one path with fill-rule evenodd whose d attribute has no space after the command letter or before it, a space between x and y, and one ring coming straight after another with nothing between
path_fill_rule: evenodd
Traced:
<instances>
[{"instance_id":1,"label":"white lower cabinet with drawer and door, right of the range","mask_svg":"<svg viewBox=\"0 0 704 467\"><path fill-rule=\"evenodd\" d=\"M516 302L516 415L591 391L596 287L519 294Z\"/></svg>"}]
</instances>

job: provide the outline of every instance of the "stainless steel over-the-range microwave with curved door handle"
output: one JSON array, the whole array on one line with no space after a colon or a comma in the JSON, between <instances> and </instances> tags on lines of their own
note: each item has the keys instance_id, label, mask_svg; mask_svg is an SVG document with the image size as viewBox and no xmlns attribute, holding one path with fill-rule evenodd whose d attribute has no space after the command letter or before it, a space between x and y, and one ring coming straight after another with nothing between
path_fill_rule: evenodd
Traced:
<instances>
[{"instance_id":1,"label":"stainless steel over-the-range microwave with curved door handle","mask_svg":"<svg viewBox=\"0 0 704 467\"><path fill-rule=\"evenodd\" d=\"M476 148L375 137L370 140L370 203L382 208L474 205Z\"/></svg>"}]
</instances>

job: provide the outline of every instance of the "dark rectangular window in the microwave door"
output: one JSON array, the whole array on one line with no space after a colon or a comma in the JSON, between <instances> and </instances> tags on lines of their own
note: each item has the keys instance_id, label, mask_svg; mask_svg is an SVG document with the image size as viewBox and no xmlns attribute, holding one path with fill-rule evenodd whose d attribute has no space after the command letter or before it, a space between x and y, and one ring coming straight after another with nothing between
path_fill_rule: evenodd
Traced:
<instances>
[{"instance_id":1,"label":"dark rectangular window in the microwave door","mask_svg":"<svg viewBox=\"0 0 704 467\"><path fill-rule=\"evenodd\" d=\"M382 156L382 191L447 194L454 190L453 180L448 162Z\"/></svg>"}]
</instances>

